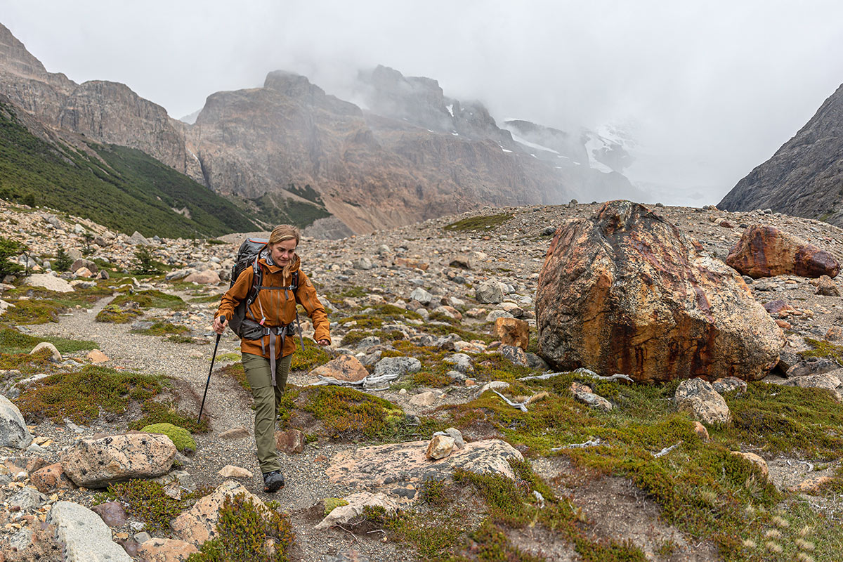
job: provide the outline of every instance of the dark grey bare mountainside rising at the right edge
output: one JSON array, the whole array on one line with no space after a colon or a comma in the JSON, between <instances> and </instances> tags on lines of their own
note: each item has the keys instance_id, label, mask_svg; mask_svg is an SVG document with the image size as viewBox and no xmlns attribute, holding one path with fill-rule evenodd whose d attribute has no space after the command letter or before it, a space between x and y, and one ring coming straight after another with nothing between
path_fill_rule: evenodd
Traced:
<instances>
[{"instance_id":1,"label":"dark grey bare mountainside rising at the right edge","mask_svg":"<svg viewBox=\"0 0 843 562\"><path fill-rule=\"evenodd\" d=\"M728 211L771 208L843 226L843 85L717 206Z\"/></svg>"}]
</instances>

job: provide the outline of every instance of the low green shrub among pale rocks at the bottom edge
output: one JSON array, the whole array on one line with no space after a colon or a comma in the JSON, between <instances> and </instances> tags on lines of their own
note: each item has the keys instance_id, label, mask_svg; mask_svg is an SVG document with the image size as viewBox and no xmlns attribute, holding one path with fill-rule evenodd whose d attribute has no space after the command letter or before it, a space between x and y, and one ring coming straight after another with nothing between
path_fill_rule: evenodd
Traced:
<instances>
[{"instance_id":1,"label":"low green shrub among pale rocks at the bottom edge","mask_svg":"<svg viewBox=\"0 0 843 562\"><path fill-rule=\"evenodd\" d=\"M266 551L271 541L273 553ZM219 511L217 538L202 544L188 562L289 562L293 526L286 514L270 506L255 505L243 494L226 496Z\"/></svg>"}]
</instances>

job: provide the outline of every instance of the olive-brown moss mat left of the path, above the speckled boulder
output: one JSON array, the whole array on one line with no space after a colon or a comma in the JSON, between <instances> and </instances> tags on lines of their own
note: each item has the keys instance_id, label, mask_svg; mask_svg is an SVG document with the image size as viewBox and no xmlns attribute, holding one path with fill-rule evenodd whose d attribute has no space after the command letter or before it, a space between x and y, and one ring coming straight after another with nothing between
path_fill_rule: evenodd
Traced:
<instances>
[{"instance_id":1,"label":"olive-brown moss mat left of the path, above the speckled boulder","mask_svg":"<svg viewBox=\"0 0 843 562\"><path fill-rule=\"evenodd\" d=\"M56 373L32 383L16 404L30 422L51 419L62 424L70 418L86 424L100 413L124 413L130 401L144 404L162 388L162 377L89 365L78 372Z\"/></svg>"}]
</instances>

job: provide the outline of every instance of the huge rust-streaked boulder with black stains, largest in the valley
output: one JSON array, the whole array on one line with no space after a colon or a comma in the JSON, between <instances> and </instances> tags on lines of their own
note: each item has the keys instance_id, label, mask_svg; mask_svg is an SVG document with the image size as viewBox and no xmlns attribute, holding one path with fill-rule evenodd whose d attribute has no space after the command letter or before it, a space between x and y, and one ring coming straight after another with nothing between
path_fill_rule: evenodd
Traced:
<instances>
[{"instance_id":1,"label":"huge rust-streaked boulder with black stains, largest in the valley","mask_svg":"<svg viewBox=\"0 0 843 562\"><path fill-rule=\"evenodd\" d=\"M644 206L609 201L562 225L536 296L539 354L637 381L764 377L781 329L744 280Z\"/></svg>"}]
</instances>

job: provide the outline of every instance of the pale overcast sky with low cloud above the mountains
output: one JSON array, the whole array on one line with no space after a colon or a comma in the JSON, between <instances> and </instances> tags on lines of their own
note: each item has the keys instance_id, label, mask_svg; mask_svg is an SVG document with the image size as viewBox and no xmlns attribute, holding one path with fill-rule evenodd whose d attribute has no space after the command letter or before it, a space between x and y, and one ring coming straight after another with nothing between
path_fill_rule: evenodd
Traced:
<instances>
[{"instance_id":1,"label":"pale overcast sky with low cloud above the mountains","mask_svg":"<svg viewBox=\"0 0 843 562\"><path fill-rule=\"evenodd\" d=\"M0 22L48 71L126 83L174 117L271 70L341 94L384 64L499 122L624 124L628 175L676 204L717 203L843 82L839 0L0 0Z\"/></svg>"}]
</instances>

